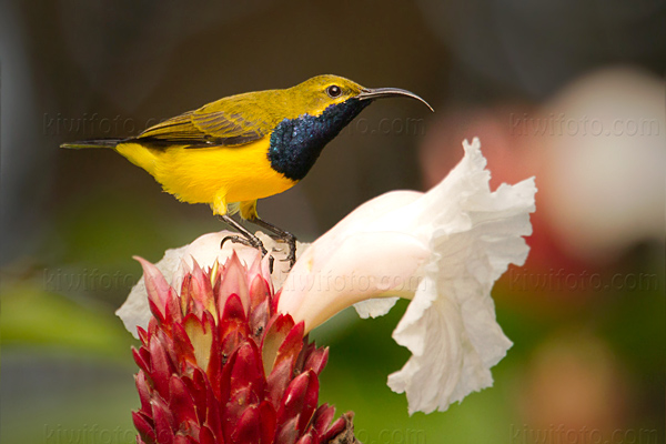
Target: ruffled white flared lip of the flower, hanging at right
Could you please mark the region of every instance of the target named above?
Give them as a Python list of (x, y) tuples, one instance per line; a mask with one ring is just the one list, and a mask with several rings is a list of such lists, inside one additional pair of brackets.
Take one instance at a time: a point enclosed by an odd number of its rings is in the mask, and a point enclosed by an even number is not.
[(527, 256), (522, 236), (532, 232), (536, 189), (529, 179), (491, 192), (477, 142), (465, 144), (463, 161), (422, 199), (454, 211), (433, 214), (434, 254), (393, 333), (413, 353), (389, 377), (392, 390), (406, 392), (410, 413), (444, 411), (492, 385), (490, 367), (512, 345), (495, 320), (491, 289), (509, 263), (521, 265)]

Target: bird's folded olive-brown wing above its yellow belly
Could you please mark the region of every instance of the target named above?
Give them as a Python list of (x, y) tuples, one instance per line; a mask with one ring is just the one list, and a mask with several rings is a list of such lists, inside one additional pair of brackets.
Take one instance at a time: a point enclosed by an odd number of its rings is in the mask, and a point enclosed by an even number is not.
[(135, 140), (157, 147), (173, 144), (188, 148), (234, 147), (253, 142), (265, 135), (263, 121), (250, 120), (240, 113), (209, 111), (202, 107), (158, 123)]

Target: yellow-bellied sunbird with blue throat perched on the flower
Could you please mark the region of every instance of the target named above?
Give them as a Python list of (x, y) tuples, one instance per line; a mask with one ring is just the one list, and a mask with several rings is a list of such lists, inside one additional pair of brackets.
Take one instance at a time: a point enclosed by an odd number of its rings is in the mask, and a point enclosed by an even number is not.
[(268, 252), (232, 215), (261, 226), (289, 245), (296, 238), (261, 219), (256, 201), (299, 183), (324, 147), (377, 99), (405, 97), (398, 88), (364, 88), (339, 75), (313, 77), (286, 89), (230, 95), (148, 128), (135, 137), (95, 139), (60, 147), (107, 148), (150, 173), (163, 190), (188, 203), (209, 204), (213, 214), (241, 234), (224, 238)]

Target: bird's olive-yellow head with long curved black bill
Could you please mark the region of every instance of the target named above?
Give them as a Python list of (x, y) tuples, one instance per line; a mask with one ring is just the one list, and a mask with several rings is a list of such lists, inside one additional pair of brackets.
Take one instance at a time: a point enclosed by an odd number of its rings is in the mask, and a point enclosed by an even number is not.
[(406, 97), (418, 100), (433, 111), (425, 100), (413, 92), (398, 88), (363, 88), (359, 83), (340, 75), (313, 77), (286, 91), (291, 95), (290, 103), (294, 108), (297, 108), (300, 112), (306, 110), (306, 113), (313, 117), (321, 115), (326, 109), (331, 110), (330, 107), (332, 105), (333, 108), (341, 105), (357, 109), (357, 113), (375, 99), (391, 97)]

